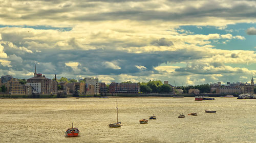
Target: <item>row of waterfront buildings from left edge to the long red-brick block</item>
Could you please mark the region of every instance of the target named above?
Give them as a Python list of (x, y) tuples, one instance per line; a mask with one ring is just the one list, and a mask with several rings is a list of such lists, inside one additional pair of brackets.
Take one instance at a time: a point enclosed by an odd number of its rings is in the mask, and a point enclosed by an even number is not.
[(26, 84), (22, 84), (17, 78), (6, 75), (1, 77), (0, 85), (5, 85), (7, 88), (5, 93), (12, 95), (31, 95), (31, 94), (46, 94), (46, 95), (97, 95), (104, 93), (139, 93), (140, 85), (138, 83), (116, 83), (112, 82), (109, 88), (104, 82), (99, 82), (96, 77), (84, 78), (83, 82), (69, 83), (66, 81), (58, 82), (56, 75), (54, 79), (45, 77), (40, 73), (34, 74), (34, 77), (27, 79)]

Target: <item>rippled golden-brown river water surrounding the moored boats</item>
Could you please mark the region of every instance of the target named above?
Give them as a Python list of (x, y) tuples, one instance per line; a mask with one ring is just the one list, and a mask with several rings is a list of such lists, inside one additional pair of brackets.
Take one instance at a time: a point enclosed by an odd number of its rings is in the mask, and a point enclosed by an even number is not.
[[(116, 122), (118, 99), (121, 128)], [(0, 142), (256, 142), (256, 100), (216, 98), (0, 99)], [(217, 110), (205, 113), (204, 110)], [(179, 119), (179, 113), (198, 116)], [(155, 114), (157, 120), (139, 124)], [(71, 127), (79, 137), (65, 137)]]

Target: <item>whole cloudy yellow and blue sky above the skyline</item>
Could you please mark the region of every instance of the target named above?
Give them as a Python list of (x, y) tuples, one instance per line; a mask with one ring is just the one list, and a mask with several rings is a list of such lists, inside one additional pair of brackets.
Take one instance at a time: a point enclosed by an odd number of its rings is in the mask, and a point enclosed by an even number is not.
[(250, 82), (256, 2), (0, 0), (0, 75)]

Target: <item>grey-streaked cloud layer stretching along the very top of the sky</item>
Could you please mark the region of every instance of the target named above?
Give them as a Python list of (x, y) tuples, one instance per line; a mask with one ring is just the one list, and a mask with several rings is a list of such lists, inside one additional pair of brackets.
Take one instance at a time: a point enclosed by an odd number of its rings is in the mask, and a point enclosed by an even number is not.
[[(14, 1), (15, 2), (15, 1)], [(18, 1), (17, 1), (18, 2)], [(16, 20), (56, 20), (56, 21), (99, 21), (99, 20), (164, 20), (197, 21), (208, 17), (230, 20), (256, 18), (255, 6), (239, 1), (26, 1), (28, 4), (14, 5), (12, 13), (4, 12), (2, 18)], [(38, 3), (35, 3), (38, 2)], [(132, 3), (133, 2), (133, 5)], [(189, 3), (188, 3), (189, 2)], [(31, 5), (31, 4), (36, 5)], [(253, 3), (253, 1), (250, 1)], [(226, 5), (228, 5), (228, 7)], [(255, 3), (254, 3), (255, 4)], [(183, 6), (180, 9), (180, 5)], [(197, 5), (197, 7), (195, 6)], [(3, 4), (4, 8), (10, 5)], [(44, 6), (44, 9), (42, 7)], [(48, 6), (48, 7), (46, 7)], [(164, 9), (172, 6), (172, 10)], [(103, 10), (106, 9), (106, 10)], [(161, 9), (161, 11), (159, 10)], [(6, 9), (8, 10), (8, 9)], [(101, 11), (102, 10), (102, 11)], [(19, 13), (18, 13), (19, 12)], [(20, 16), (21, 15), (21, 16)]]

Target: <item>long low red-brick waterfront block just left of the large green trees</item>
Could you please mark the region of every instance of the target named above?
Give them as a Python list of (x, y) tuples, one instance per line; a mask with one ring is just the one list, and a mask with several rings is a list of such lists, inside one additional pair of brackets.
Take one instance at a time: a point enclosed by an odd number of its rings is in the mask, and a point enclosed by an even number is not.
[(109, 93), (139, 93), (140, 84), (138, 83), (116, 83), (112, 82)]

